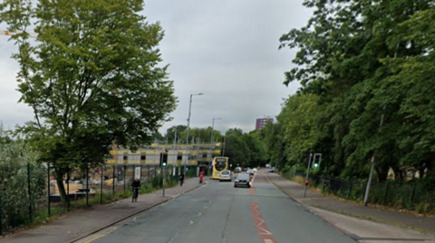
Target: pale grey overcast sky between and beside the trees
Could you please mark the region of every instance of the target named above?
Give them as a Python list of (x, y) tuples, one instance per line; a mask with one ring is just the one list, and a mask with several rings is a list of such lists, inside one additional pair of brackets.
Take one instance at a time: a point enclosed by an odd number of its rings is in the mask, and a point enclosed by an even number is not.
[[(191, 127), (211, 126), (245, 132), (255, 128), (258, 117), (275, 117), (283, 98), (297, 85), (283, 85), (284, 72), (292, 67), (295, 51), (278, 51), (278, 39), (303, 26), (311, 11), (302, 0), (145, 0), (150, 23), (159, 21), (165, 31), (160, 43), (163, 63), (169, 63), (179, 100), (171, 114), (173, 125), (187, 124), (189, 95), (193, 98)], [(0, 24), (0, 30), (6, 26)], [(0, 120), (5, 128), (33, 119), (32, 109), (17, 103), (15, 75), (18, 65), (10, 59), (13, 42), (0, 35)]]

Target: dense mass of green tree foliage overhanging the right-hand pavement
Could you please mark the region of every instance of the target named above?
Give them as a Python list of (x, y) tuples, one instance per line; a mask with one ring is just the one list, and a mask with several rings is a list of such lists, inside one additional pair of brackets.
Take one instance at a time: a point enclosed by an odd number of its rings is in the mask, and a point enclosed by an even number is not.
[[(304, 1), (314, 10), (281, 48), (297, 48), (276, 124), (262, 133), (280, 169), (322, 153), (316, 172), (385, 182), (435, 175), (435, 6), (426, 0)], [(386, 17), (388, 16), (388, 17)], [(380, 126), (382, 120), (382, 126)]]

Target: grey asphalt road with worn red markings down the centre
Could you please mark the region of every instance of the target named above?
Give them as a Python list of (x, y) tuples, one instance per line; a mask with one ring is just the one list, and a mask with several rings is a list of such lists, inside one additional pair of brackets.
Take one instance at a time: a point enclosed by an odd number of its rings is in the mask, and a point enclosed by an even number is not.
[(80, 242), (354, 241), (292, 201), (260, 171), (251, 189), (234, 188), (234, 182), (209, 182)]

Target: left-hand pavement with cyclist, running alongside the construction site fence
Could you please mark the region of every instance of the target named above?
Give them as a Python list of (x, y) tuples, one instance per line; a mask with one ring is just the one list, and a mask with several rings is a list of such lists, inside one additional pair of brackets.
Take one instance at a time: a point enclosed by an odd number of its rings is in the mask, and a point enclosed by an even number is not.
[[(208, 178), (205, 178), (205, 183)], [(59, 220), (43, 225), (37, 229), (25, 230), (1, 238), (5, 243), (46, 243), (46, 242), (74, 242), (87, 237), (97, 231), (106, 229), (121, 220), (125, 220), (144, 210), (179, 197), (183, 193), (192, 191), (204, 184), (199, 184), (198, 178), (185, 180), (183, 186), (175, 186), (162, 191), (141, 194), (138, 201), (132, 203), (131, 198), (115, 201), (110, 204), (96, 205), (88, 210), (73, 210), (63, 215)]]

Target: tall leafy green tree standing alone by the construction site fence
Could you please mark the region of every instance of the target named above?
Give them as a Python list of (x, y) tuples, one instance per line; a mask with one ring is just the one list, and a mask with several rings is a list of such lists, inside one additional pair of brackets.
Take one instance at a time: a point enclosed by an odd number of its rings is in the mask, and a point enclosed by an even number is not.
[(142, 10), (141, 0), (0, 4), (0, 21), (17, 33), (20, 101), (34, 110), (23, 130), (40, 161), (53, 165), (63, 199), (69, 168), (100, 165), (112, 143), (134, 150), (152, 142), (175, 107), (160, 65), (160, 24), (146, 22)]

